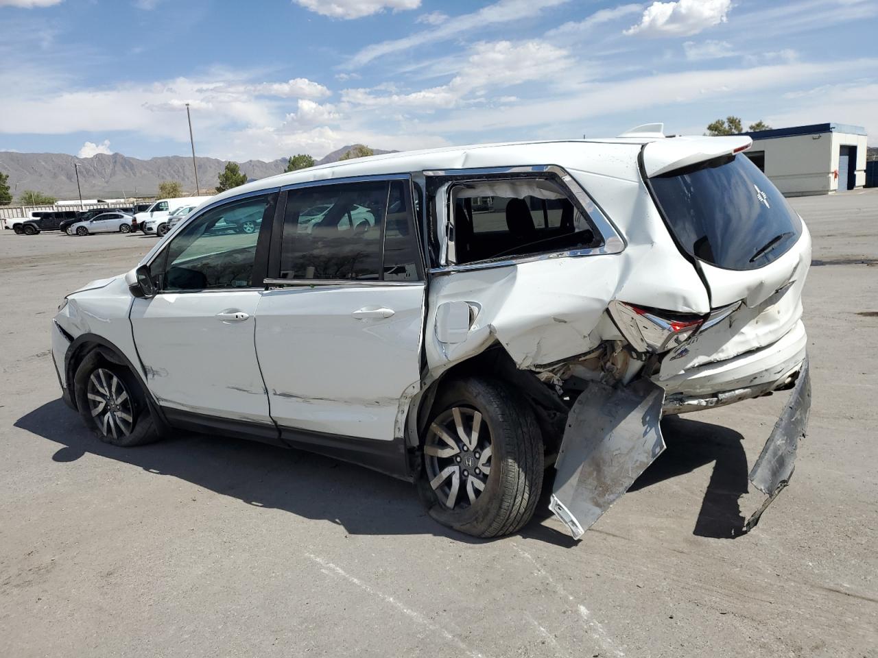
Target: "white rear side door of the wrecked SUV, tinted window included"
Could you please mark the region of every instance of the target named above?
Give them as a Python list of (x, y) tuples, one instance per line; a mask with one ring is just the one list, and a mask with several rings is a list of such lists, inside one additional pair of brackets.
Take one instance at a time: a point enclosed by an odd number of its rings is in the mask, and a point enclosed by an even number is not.
[(289, 191), (266, 281), (275, 290), (256, 312), (256, 352), (284, 433), (399, 435), (400, 400), (420, 380), (424, 308), (411, 209), (401, 176)]

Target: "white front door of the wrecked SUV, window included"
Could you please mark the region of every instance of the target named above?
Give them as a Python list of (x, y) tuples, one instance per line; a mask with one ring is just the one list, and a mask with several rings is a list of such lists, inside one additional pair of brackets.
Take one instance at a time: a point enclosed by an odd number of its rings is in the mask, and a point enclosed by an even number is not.
[(274, 431), (254, 347), (264, 290), (256, 252), (268, 234), (232, 232), (219, 220), (245, 206), (271, 218), (276, 203), (273, 192), (209, 209), (152, 261), (159, 292), (134, 300), (131, 321), (149, 390), (162, 407)]

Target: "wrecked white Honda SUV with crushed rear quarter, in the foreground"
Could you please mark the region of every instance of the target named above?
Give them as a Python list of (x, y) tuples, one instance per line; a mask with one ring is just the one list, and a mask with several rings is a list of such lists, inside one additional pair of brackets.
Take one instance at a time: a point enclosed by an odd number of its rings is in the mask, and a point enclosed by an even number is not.
[(811, 247), (750, 145), (648, 125), (227, 190), (68, 295), (64, 399), (118, 446), (185, 428), (377, 468), (479, 537), (527, 523), (554, 468), (579, 538), (662, 452), (662, 415), (790, 390), (749, 529), (807, 425)]

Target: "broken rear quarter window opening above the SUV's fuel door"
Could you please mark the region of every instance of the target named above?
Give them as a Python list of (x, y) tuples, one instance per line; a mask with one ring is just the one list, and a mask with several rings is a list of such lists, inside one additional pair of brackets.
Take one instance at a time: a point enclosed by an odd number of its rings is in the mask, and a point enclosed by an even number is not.
[(454, 248), (450, 261), (596, 247), (586, 215), (551, 179), (484, 179), (450, 188)]

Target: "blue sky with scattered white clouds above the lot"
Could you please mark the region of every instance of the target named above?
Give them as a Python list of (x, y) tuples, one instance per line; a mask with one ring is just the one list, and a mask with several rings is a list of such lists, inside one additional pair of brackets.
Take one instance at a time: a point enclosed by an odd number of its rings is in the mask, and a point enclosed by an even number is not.
[(0, 0), (0, 151), (245, 161), (865, 126), (876, 0)]

